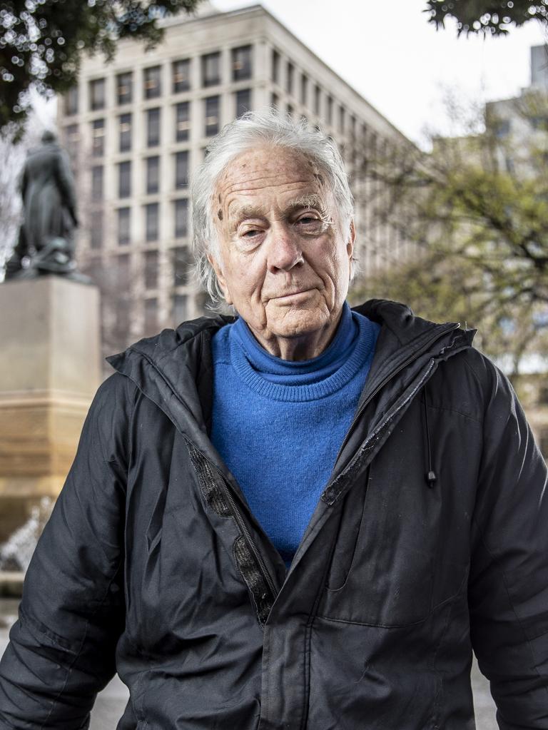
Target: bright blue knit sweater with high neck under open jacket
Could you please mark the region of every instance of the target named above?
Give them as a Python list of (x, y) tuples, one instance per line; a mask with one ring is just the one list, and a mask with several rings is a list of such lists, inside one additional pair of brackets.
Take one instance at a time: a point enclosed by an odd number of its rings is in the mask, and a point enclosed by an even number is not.
[(350, 429), (378, 333), (345, 304), (312, 360), (271, 356), (242, 318), (213, 338), (212, 442), (286, 564)]

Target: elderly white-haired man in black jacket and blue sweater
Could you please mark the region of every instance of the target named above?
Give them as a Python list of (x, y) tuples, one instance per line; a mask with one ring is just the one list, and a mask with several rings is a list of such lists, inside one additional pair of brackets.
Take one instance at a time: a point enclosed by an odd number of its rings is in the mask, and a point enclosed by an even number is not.
[(548, 727), (547, 472), (473, 333), (345, 299), (339, 153), (247, 115), (193, 190), (202, 318), (111, 358), (28, 569), (0, 728)]

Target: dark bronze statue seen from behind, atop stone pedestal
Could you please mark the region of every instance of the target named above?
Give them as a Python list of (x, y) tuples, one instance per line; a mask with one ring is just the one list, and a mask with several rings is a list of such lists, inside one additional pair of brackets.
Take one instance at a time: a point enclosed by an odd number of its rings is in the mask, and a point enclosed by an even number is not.
[(76, 191), (69, 157), (52, 131), (30, 150), (20, 186), (23, 223), (7, 262), (6, 278), (62, 274), (74, 278), (74, 228), (78, 226)]

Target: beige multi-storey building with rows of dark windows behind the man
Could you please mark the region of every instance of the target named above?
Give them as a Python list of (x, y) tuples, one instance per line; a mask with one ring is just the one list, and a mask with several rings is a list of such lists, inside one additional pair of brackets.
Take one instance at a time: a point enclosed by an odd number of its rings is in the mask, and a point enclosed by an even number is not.
[[(350, 169), (363, 150), (407, 143), (260, 5), (206, 6), (163, 26), (153, 50), (125, 39), (111, 63), (85, 59), (58, 114), (83, 209), (80, 264), (103, 291), (111, 351), (203, 313), (188, 274), (188, 185), (225, 123), (269, 106), (304, 116), (339, 142)], [(357, 223), (362, 270), (401, 255), (401, 234), (367, 206)]]

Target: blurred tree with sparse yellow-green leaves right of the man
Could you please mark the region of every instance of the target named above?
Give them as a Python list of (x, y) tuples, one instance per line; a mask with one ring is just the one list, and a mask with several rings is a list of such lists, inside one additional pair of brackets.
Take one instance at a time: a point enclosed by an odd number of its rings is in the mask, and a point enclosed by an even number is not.
[[(452, 114), (466, 118), (457, 106)], [(506, 112), (516, 134), (493, 107), (474, 110), (460, 137), (432, 137), (430, 153), (369, 154), (360, 174), (390, 191), (376, 214), (415, 253), (358, 283), (354, 296), (366, 289), (477, 327), (482, 349), (511, 356), (517, 372), (548, 339), (548, 98), (531, 92)]]

